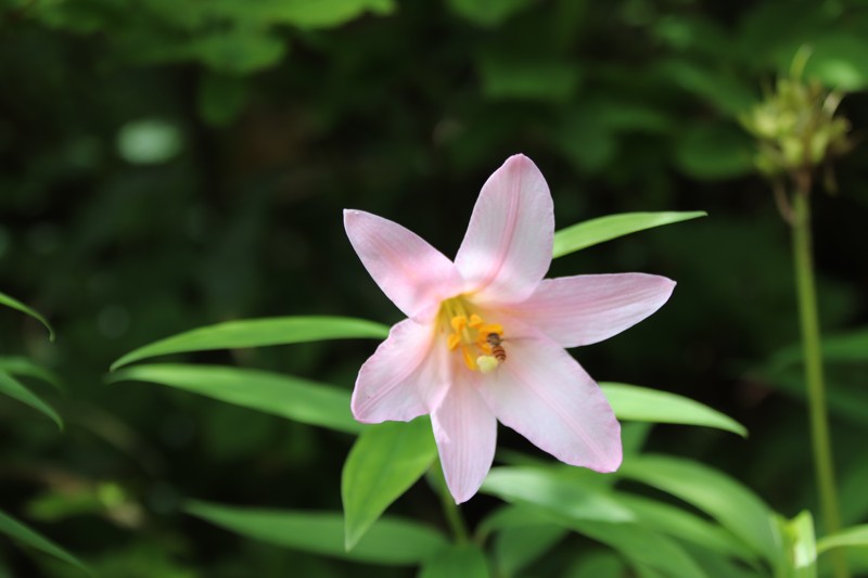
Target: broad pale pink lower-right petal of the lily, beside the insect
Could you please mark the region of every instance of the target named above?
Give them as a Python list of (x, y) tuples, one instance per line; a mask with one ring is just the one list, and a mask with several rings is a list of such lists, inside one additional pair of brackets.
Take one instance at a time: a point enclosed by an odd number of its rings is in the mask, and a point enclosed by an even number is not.
[(621, 425), (600, 387), (544, 335), (511, 339), (480, 391), (500, 422), (562, 462), (597, 472), (621, 465)]

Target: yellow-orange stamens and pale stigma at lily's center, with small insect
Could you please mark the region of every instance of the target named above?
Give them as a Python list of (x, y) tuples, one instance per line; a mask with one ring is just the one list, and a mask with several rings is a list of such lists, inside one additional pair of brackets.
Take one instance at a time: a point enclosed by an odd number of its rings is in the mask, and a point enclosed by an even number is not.
[(447, 334), (446, 346), (461, 352), (468, 369), (488, 373), (507, 359), (503, 326), (487, 323), (463, 295), (443, 301), (437, 318), (441, 331)]

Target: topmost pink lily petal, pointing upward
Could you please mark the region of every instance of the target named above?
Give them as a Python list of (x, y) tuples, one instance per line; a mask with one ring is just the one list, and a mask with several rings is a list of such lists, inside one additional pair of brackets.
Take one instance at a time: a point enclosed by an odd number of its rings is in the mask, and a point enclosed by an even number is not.
[(519, 301), (546, 275), (553, 237), (546, 179), (529, 158), (514, 155), (483, 185), (455, 264), (482, 300)]

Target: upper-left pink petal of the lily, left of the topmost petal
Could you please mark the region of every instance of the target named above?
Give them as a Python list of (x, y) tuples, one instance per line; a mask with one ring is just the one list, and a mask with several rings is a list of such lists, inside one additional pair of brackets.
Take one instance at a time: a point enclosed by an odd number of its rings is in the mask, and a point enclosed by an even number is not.
[(461, 292), (452, 262), (412, 231), (349, 209), (344, 210), (344, 228), (365, 268), (407, 317)]

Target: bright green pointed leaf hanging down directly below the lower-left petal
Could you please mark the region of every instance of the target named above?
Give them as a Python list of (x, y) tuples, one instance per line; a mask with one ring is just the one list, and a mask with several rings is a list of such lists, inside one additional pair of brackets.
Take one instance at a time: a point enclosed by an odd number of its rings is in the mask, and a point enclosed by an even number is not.
[(386, 422), (361, 433), (341, 478), (347, 550), (416, 484), (436, 455), (431, 421), (426, 419)]

